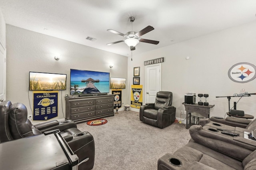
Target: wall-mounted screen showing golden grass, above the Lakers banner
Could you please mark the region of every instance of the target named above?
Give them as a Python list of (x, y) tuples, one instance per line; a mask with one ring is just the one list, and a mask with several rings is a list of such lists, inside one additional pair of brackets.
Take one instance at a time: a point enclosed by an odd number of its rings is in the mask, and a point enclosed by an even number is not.
[(67, 74), (29, 72), (29, 90), (66, 90)]

